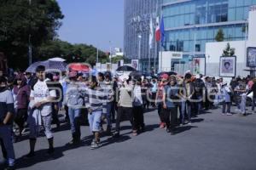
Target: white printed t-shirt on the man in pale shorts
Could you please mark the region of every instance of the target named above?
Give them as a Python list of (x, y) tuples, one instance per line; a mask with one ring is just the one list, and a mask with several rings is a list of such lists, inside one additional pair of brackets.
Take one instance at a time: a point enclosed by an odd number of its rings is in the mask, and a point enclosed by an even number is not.
[[(48, 99), (49, 97), (56, 97), (56, 92), (55, 90), (49, 90), (46, 84), (46, 80), (44, 82), (38, 80), (38, 82), (34, 85), (33, 90), (31, 91), (30, 97), (34, 98), (35, 103), (38, 103)], [(43, 105), (41, 109), (42, 116), (49, 116), (51, 112), (51, 103)]]

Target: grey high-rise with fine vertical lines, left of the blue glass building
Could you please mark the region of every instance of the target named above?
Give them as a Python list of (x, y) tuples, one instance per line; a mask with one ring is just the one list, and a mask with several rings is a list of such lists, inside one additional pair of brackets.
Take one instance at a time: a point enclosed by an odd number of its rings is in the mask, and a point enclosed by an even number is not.
[[(157, 48), (148, 50), (149, 22), (157, 11), (158, 0), (125, 0), (124, 54), (129, 59), (139, 59), (143, 71), (148, 68), (148, 55), (151, 65)], [(141, 38), (139, 38), (141, 36)], [(139, 53), (140, 50), (140, 53)]]

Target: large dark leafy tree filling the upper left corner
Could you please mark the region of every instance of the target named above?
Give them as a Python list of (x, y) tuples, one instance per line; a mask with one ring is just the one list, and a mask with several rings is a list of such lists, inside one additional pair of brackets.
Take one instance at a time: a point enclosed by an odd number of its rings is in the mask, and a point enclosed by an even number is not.
[(9, 65), (26, 66), (28, 37), (31, 35), (33, 59), (38, 47), (53, 40), (61, 26), (63, 14), (55, 0), (0, 1), (0, 51), (9, 59)]

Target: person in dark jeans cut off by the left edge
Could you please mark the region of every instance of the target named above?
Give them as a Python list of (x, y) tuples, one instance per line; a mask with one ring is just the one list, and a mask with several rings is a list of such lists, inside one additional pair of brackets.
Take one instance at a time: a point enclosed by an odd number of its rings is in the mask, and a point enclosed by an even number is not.
[(12, 123), (15, 113), (13, 95), (7, 88), (7, 79), (0, 77), (0, 144), (3, 158), (8, 167), (6, 170), (15, 169), (15, 150), (12, 142)]

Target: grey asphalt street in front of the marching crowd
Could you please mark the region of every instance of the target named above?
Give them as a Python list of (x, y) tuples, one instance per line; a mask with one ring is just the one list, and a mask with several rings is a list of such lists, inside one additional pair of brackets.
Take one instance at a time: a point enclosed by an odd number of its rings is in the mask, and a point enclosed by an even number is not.
[(28, 140), (15, 143), (17, 169), (255, 170), (256, 114), (224, 116), (220, 111), (195, 117), (175, 135), (160, 129), (157, 111), (150, 111), (145, 114), (145, 133), (134, 137), (130, 123), (122, 122), (120, 138), (102, 138), (102, 147), (97, 150), (90, 150), (90, 131), (85, 126), (82, 144), (65, 146), (71, 133), (62, 124), (61, 131), (54, 133), (55, 155), (50, 159), (45, 156), (45, 137), (38, 139), (36, 156), (30, 160), (22, 158), (29, 150)]

